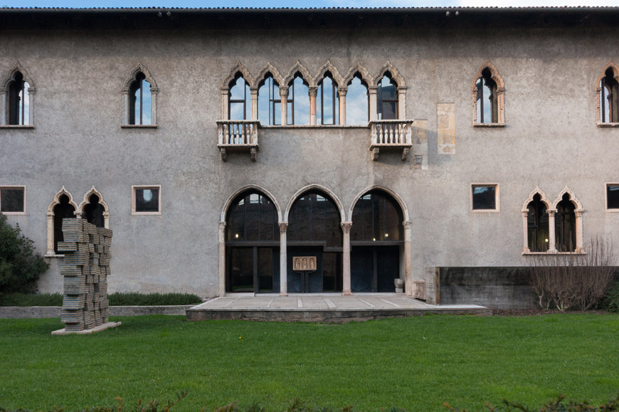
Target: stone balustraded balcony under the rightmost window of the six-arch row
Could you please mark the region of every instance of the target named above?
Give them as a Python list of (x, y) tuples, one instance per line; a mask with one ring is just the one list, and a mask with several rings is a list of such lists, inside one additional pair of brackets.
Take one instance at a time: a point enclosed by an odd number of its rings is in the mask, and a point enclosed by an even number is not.
[(413, 146), (413, 120), (374, 120), (370, 122), (372, 160), (379, 159), (384, 149), (401, 150), (402, 160), (408, 158)]

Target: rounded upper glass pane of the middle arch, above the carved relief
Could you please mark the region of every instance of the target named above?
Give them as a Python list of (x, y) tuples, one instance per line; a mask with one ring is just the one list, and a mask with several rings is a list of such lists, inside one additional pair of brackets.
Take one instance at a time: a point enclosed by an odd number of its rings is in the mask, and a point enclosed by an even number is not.
[(290, 209), (287, 235), (291, 242), (325, 242), (327, 246), (342, 247), (337, 206), (320, 192), (304, 194)]

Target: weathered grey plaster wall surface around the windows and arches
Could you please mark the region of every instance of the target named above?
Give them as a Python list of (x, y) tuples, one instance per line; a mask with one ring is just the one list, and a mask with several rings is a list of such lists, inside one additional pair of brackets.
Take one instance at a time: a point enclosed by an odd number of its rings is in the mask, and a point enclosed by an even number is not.
[[(613, 30), (611, 30), (613, 31)], [(615, 29), (615, 31), (618, 31)], [(618, 34), (618, 33), (614, 33)], [(282, 208), (320, 184), (346, 211), (375, 184), (398, 193), (413, 230), (413, 277), (433, 266), (522, 265), (520, 210), (537, 185), (568, 186), (586, 209), (584, 238), (613, 233), (605, 182), (619, 181), (619, 130), (596, 127), (595, 81), (618, 53), (608, 30), (483, 27), (341, 30), (4, 31), (0, 77), (19, 62), (33, 79), (34, 130), (0, 130), (0, 185), (26, 185), (27, 215), (11, 216), (46, 250), (46, 210), (62, 186), (75, 201), (94, 185), (110, 207), (110, 292), (218, 293), (218, 222), (226, 199), (256, 184)], [(605, 47), (600, 47), (604, 44)], [(428, 169), (409, 157), (372, 162), (368, 128), (260, 130), (258, 161), (216, 149), (223, 78), (239, 61), (314, 75), (330, 60), (371, 75), (387, 60), (408, 86), (406, 117), (428, 121)], [(505, 82), (506, 127), (474, 128), (471, 83), (490, 60)], [(157, 129), (121, 129), (121, 90), (142, 63), (159, 87)], [(437, 152), (437, 104), (455, 105), (455, 153)], [(497, 182), (500, 213), (471, 213), (470, 184)], [(162, 215), (132, 216), (131, 186), (162, 185)], [(615, 250), (619, 249), (615, 236)], [(41, 280), (59, 291), (58, 260)], [(430, 280), (430, 279), (428, 279)]]

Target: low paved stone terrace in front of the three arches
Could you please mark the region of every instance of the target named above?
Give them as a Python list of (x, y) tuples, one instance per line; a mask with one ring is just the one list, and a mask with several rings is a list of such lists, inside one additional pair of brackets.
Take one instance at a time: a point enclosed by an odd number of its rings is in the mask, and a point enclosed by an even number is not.
[(350, 322), (450, 313), (458, 315), (492, 315), (478, 305), (428, 305), (420, 300), (396, 295), (339, 293), (320, 295), (228, 295), (217, 297), (187, 310), (187, 320), (244, 319), (277, 322)]

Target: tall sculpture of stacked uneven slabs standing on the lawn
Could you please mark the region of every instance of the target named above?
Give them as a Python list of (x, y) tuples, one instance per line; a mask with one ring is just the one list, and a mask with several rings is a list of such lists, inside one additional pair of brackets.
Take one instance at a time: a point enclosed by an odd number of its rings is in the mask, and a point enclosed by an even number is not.
[(112, 231), (80, 218), (63, 219), (65, 253), (60, 274), (64, 278), (61, 320), (66, 332), (92, 329), (107, 323), (107, 276), (110, 275)]

